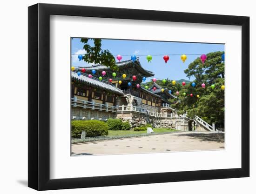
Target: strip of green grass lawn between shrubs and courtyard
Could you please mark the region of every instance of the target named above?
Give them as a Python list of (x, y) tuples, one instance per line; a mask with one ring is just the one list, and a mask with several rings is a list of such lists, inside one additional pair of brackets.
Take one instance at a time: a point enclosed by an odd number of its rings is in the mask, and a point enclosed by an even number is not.
[[(163, 132), (173, 132), (177, 131), (176, 129), (169, 128), (153, 128), (154, 133), (163, 133)], [(127, 134), (146, 134), (145, 131), (131, 131), (131, 130), (108, 130), (108, 136), (118, 136), (118, 135), (127, 135)]]

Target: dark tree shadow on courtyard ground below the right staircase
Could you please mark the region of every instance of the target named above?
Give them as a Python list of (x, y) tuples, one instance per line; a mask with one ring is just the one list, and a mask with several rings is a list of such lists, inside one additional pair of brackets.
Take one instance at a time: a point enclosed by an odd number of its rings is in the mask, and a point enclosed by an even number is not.
[(201, 141), (215, 141), (219, 143), (224, 143), (224, 133), (213, 133), (213, 134), (197, 134), (197, 133), (191, 133), (191, 134), (176, 134), (177, 136), (187, 136), (190, 137), (190, 139), (197, 139)]

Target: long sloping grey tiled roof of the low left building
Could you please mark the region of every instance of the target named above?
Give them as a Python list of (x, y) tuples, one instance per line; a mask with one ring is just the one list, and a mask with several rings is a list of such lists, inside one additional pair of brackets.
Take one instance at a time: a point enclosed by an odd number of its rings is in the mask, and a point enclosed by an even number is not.
[(107, 90), (109, 92), (115, 93), (115, 94), (119, 94), (119, 95), (123, 95), (123, 92), (121, 89), (115, 87), (115, 85), (110, 84), (109, 82), (106, 81), (101, 81), (97, 78), (89, 78), (87, 74), (82, 74), (80, 76), (77, 75), (77, 71), (73, 71), (71, 72), (71, 77), (74, 80), (80, 80), (82, 82), (85, 82), (86, 84), (88, 84), (89, 86), (93, 86), (93, 87), (98, 87), (100, 89), (104, 89)]

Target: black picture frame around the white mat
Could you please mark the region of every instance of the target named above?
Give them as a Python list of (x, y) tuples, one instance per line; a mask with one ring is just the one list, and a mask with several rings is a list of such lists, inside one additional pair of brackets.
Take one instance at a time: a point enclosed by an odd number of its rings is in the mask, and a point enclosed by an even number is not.
[[(50, 15), (242, 26), (242, 167), (53, 179), (50, 175)], [(36, 4), (28, 7), (28, 187), (103, 187), (249, 176), (249, 17), (138, 9)]]

